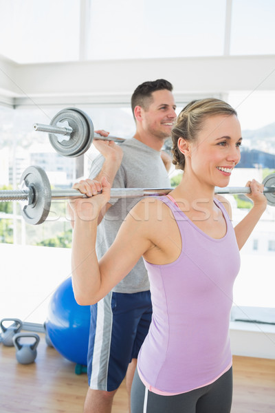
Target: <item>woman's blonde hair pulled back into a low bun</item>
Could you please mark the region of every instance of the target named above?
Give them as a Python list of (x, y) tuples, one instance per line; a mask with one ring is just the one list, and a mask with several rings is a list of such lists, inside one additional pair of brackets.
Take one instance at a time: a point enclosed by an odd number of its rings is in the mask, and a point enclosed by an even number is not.
[(173, 164), (177, 169), (184, 170), (185, 166), (184, 154), (179, 151), (177, 146), (179, 138), (195, 142), (199, 131), (203, 128), (204, 120), (214, 115), (237, 116), (235, 109), (217, 98), (192, 100), (181, 110), (172, 131), (173, 147), (171, 151), (173, 153)]

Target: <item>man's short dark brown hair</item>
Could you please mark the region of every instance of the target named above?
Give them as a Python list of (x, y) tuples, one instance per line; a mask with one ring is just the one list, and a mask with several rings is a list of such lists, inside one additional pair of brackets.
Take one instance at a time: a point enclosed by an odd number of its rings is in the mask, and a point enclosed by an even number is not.
[(152, 93), (156, 90), (163, 89), (167, 89), (172, 92), (173, 85), (165, 79), (157, 79), (156, 81), (144, 82), (137, 86), (131, 98), (133, 117), (135, 118), (134, 110), (136, 106), (141, 106), (142, 109), (146, 110), (153, 100)]

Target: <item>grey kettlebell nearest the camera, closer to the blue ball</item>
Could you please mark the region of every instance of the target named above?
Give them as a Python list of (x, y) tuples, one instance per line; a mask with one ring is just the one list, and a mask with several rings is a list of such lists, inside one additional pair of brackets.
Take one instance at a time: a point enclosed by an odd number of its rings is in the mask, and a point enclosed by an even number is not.
[[(21, 337), (32, 337), (34, 338), (34, 343), (19, 343)], [(37, 356), (36, 347), (39, 344), (40, 337), (39, 335), (33, 332), (18, 332), (13, 336), (12, 341), (14, 346), (17, 349), (17, 361), (21, 364), (30, 364), (33, 363)]]

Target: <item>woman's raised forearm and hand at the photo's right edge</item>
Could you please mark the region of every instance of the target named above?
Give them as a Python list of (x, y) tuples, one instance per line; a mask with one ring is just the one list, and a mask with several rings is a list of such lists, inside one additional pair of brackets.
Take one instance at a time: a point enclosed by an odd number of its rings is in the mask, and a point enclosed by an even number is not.
[(239, 250), (241, 250), (248, 240), (248, 237), (267, 207), (267, 199), (265, 198), (265, 195), (263, 195), (263, 184), (260, 184), (256, 180), (252, 180), (249, 181), (246, 186), (250, 187), (251, 193), (245, 195), (254, 202), (254, 205), (248, 215), (246, 215), (234, 228)]

